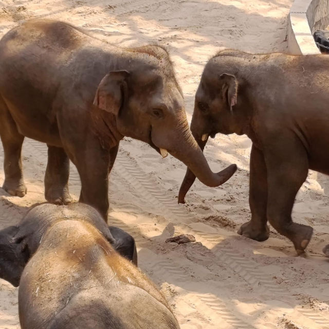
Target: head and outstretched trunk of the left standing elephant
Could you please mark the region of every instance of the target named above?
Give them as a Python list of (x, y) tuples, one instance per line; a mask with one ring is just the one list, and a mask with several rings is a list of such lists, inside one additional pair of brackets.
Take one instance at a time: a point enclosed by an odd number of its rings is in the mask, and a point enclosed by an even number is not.
[(167, 51), (159, 46), (132, 51), (133, 60), (121, 65), (129, 69), (109, 72), (97, 89), (94, 105), (103, 112), (99, 116), (108, 130), (115, 127), (122, 137), (149, 143), (162, 157), (169, 152), (207, 186), (223, 184), (236, 166), (217, 174), (210, 170), (189, 129), (184, 99)]

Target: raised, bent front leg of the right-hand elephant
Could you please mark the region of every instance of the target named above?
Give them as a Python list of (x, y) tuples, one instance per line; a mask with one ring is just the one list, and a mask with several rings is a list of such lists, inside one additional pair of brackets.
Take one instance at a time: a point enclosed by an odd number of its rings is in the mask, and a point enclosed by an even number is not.
[[(277, 137), (265, 153), (267, 168), (267, 219), (280, 234), (294, 243), (298, 254), (307, 247), (313, 228), (291, 220), (295, 197), (307, 177), (308, 157), (295, 136)], [(280, 143), (280, 144), (279, 144)]]

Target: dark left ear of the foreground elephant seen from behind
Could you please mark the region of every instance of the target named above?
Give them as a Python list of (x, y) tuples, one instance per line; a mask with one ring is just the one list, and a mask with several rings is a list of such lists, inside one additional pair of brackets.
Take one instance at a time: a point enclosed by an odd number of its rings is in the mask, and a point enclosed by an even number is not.
[(19, 227), (9, 226), (0, 231), (0, 278), (17, 287), (30, 258), (23, 237), (17, 237)]

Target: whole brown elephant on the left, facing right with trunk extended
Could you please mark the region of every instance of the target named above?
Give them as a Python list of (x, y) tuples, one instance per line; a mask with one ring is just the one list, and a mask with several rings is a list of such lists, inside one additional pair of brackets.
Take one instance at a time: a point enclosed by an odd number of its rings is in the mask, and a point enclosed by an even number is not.
[(236, 170), (210, 170), (189, 130), (165, 49), (119, 48), (57, 21), (27, 21), (0, 41), (0, 136), (8, 193), (26, 194), (26, 136), (48, 145), (45, 198), (71, 201), (70, 159), (81, 179), (80, 201), (104, 218), (108, 174), (124, 136), (149, 143), (163, 157), (169, 152), (208, 186), (223, 184)]

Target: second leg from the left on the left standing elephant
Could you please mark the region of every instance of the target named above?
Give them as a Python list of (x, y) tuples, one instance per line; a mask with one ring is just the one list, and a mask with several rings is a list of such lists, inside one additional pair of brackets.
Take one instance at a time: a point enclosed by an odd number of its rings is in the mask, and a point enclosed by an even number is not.
[(67, 205), (72, 199), (68, 192), (70, 162), (64, 149), (48, 145), (45, 174), (45, 198), (57, 205)]

